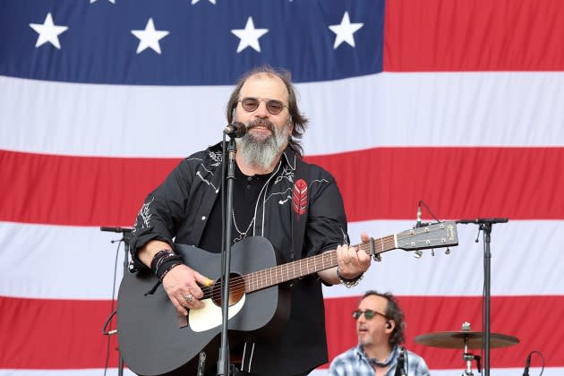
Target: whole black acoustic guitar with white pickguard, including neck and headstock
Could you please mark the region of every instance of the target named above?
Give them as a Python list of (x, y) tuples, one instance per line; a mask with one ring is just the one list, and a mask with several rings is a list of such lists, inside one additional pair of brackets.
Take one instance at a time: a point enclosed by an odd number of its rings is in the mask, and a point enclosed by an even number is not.
[[(356, 244), (376, 261), (380, 253), (394, 249), (415, 251), (458, 244), (455, 222), (440, 222), (410, 229), (370, 243)], [(359, 252), (360, 252), (359, 251)], [(162, 286), (146, 293), (158, 282), (149, 270), (125, 273), (117, 301), (119, 348), (132, 372), (141, 375), (192, 375), (198, 369), (199, 355), (215, 366), (221, 334), (221, 254), (194, 246), (175, 244), (186, 265), (202, 275), (216, 279), (213, 286), (202, 286), (205, 307), (178, 317)], [(329, 251), (298, 261), (278, 265), (269, 241), (252, 236), (235, 244), (231, 251), (229, 277), (229, 345), (244, 338), (275, 338), (289, 313), (287, 284), (320, 270), (337, 266), (337, 252)]]

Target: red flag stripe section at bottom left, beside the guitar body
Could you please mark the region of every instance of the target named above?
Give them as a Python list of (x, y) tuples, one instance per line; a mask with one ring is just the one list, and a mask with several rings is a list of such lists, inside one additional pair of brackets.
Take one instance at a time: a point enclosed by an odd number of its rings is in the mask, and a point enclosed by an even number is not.
[[(0, 369), (103, 368), (111, 301), (0, 297)], [(115, 325), (113, 326), (115, 328)], [(112, 328), (112, 329), (113, 329)], [(116, 336), (109, 366), (117, 366)]]

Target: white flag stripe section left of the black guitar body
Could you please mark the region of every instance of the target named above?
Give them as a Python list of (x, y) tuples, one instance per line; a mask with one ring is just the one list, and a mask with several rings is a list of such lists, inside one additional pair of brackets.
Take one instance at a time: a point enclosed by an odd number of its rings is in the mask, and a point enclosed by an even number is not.
[(118, 239), (98, 227), (0, 223), (0, 295), (111, 299), (124, 269)]

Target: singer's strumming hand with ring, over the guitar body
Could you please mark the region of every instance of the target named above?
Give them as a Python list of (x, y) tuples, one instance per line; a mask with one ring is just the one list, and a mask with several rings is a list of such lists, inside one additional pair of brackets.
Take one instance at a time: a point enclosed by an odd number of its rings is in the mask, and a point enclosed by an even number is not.
[(188, 314), (188, 309), (203, 308), (204, 303), (200, 301), (203, 292), (200, 286), (210, 286), (213, 283), (213, 280), (202, 276), (184, 264), (170, 269), (163, 278), (163, 287), (168, 298), (175, 306), (176, 312), (184, 316)]

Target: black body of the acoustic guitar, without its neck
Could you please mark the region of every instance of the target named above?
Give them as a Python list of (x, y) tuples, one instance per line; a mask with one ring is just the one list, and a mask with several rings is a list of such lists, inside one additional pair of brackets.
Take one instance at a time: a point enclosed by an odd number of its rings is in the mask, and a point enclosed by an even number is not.
[[(182, 254), (192, 269), (215, 279), (214, 295), (220, 295), (220, 253), (183, 244), (176, 244), (175, 251)], [(253, 236), (235, 244), (231, 253), (230, 291), (237, 282), (241, 286), (238, 276), (275, 266), (276, 252), (267, 239)], [(238, 281), (233, 282), (234, 275)], [(194, 331), (190, 320), (187, 326), (179, 328), (175, 307), (162, 286), (158, 286), (155, 294), (144, 295), (157, 281), (147, 270), (124, 275), (117, 304), (119, 348), (124, 362), (132, 372), (141, 375), (192, 375), (197, 371), (198, 355), (204, 351), (206, 369), (215, 367), (221, 342), (220, 310), (219, 318), (214, 320), (219, 325), (213, 328)], [(278, 336), (286, 325), (289, 304), (285, 286), (269, 286), (245, 294), (243, 307), (228, 321), (229, 345), (235, 346), (249, 338)], [(218, 302), (219, 308), (220, 305)]]

